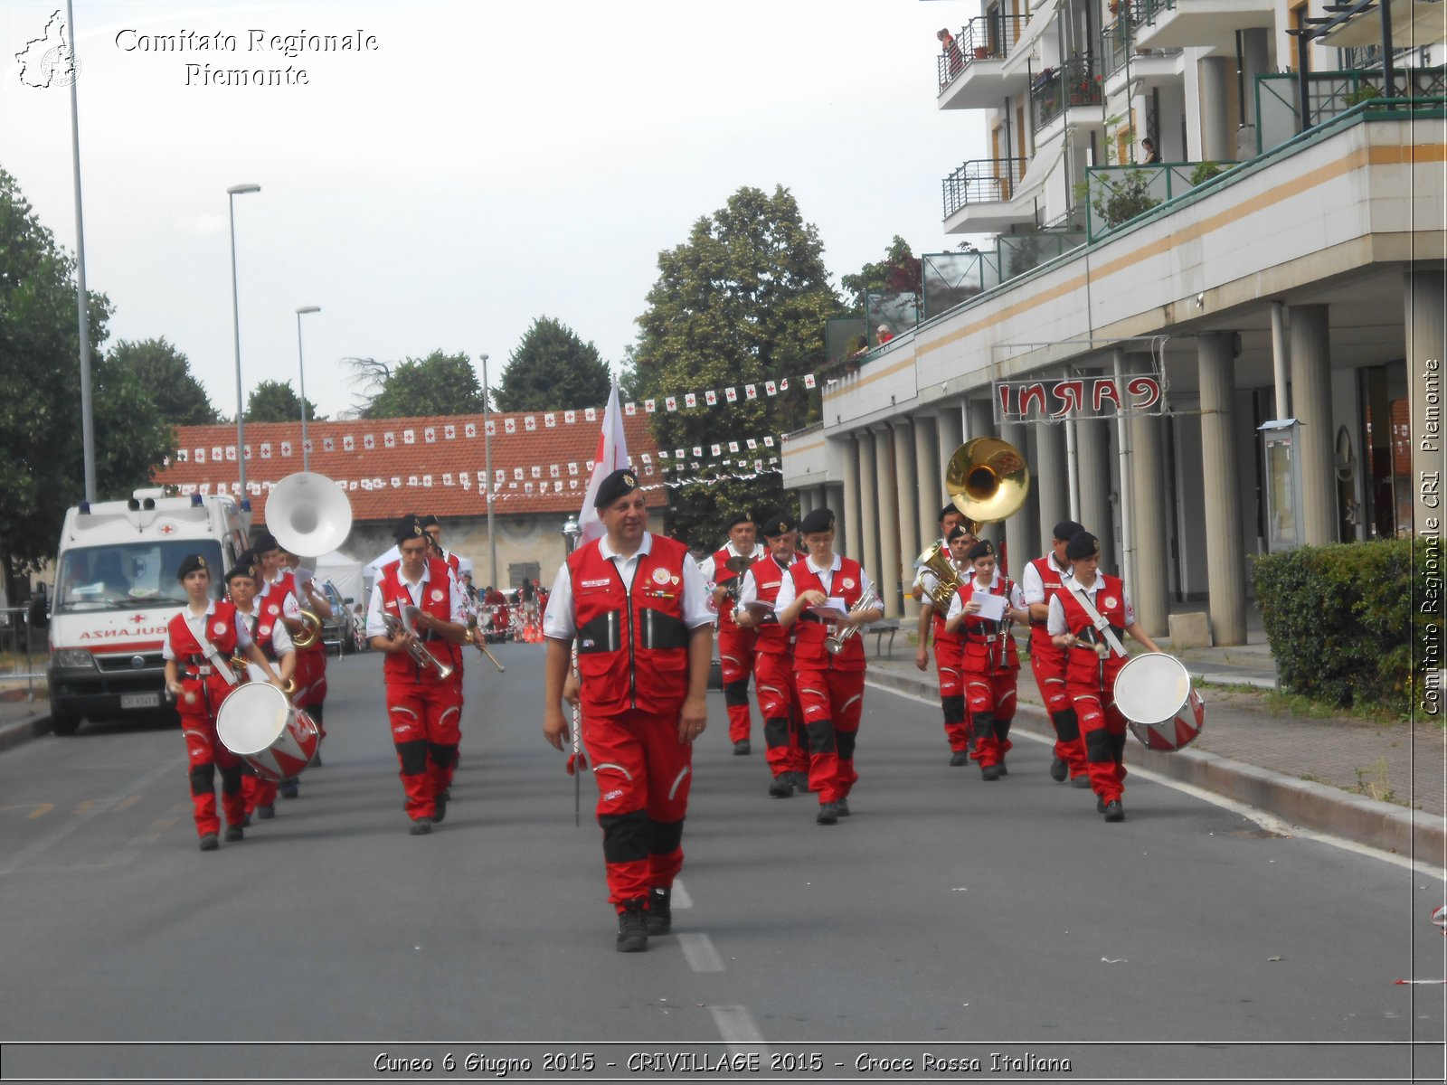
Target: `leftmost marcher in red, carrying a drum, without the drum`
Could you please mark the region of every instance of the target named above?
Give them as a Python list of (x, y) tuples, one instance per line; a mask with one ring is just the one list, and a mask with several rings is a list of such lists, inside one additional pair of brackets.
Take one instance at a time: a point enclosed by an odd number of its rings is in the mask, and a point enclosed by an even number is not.
[(226, 842), (240, 841), (245, 833), (246, 801), (242, 797), (242, 760), (221, 745), (216, 733), (216, 713), (232, 692), (233, 655), (245, 655), (281, 687), (282, 680), (266, 657), (252, 642), (246, 624), (236, 608), (210, 596), (211, 570), (205, 558), (191, 554), (181, 560), (177, 580), (187, 593), (187, 605), (166, 624), (166, 639), (161, 655), (166, 661), (166, 692), (175, 697), (181, 713), (181, 733), (185, 736), (187, 758), (191, 762), (191, 810), (201, 851), (217, 849), (221, 827), (216, 816), (216, 770), (221, 770), (221, 812), (226, 816)]

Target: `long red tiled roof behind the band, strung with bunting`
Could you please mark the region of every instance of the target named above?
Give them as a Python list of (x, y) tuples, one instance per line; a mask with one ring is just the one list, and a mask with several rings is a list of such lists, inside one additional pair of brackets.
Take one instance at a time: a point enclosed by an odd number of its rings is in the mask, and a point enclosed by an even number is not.
[[(553, 415), (551, 427), (547, 425), (548, 414)], [(566, 421), (567, 414), (492, 415), (492, 470), (504, 473), (493, 512), (534, 515), (580, 508), (603, 412), (598, 408), (595, 421), (587, 421), (583, 411), (572, 412), (573, 422)], [(528, 428), (530, 420), (532, 428)], [(509, 424), (512, 433), (506, 431)], [(661, 483), (658, 446), (647, 415), (625, 415), (624, 433), (640, 480), (644, 486)], [(482, 415), (308, 422), (307, 438), (311, 441), (311, 470), (346, 489), (355, 519), (386, 521), (404, 512), (486, 514), (478, 489), (479, 477), (486, 476)], [(177, 444), (179, 453), (158, 475), (159, 485), (179, 486), (182, 493), (201, 486), (205, 489), (200, 492), (216, 493), (221, 486), (234, 492), (234, 425), (182, 425), (177, 428)], [(253, 519), (265, 522), (269, 485), (301, 470), (301, 422), (249, 422), (246, 444), (250, 448), (246, 482), (252, 490)], [(645, 453), (651, 464), (642, 460)], [(651, 508), (669, 503), (661, 486), (647, 490), (647, 499)]]

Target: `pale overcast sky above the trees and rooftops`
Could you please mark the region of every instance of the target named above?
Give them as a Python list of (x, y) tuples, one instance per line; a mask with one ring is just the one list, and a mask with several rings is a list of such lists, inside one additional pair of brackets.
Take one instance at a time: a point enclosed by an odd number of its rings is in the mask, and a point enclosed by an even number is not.
[[(0, 6), (0, 166), (75, 244), (69, 94), (14, 55), (61, 0)], [(906, 237), (952, 249), (941, 178), (985, 156), (978, 114), (935, 109), (935, 30), (978, 0), (75, 0), (88, 285), (110, 341), (165, 336), (236, 409), (227, 195), (247, 389), (297, 378), (334, 415), (347, 356), (491, 356), (496, 383), (547, 314), (611, 363), (657, 255), (742, 185), (790, 188), (835, 282)], [(139, 48), (236, 36), (234, 52)], [(250, 30), (375, 36), (287, 58)], [(124, 32), (124, 33), (122, 33)], [(117, 35), (120, 35), (117, 41)], [(136, 46), (136, 48), (127, 48)], [(188, 64), (304, 68), (305, 85), (200, 85)], [(480, 369), (479, 369), (480, 373)]]

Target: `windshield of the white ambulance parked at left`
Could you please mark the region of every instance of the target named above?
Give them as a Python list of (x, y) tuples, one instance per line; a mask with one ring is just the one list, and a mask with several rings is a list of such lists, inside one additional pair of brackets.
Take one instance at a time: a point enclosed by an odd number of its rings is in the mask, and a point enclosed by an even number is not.
[(179, 606), (187, 596), (177, 580), (177, 570), (188, 554), (205, 558), (211, 569), (211, 596), (220, 599), (223, 570), (218, 542), (137, 540), (61, 554), (55, 576), (55, 613)]

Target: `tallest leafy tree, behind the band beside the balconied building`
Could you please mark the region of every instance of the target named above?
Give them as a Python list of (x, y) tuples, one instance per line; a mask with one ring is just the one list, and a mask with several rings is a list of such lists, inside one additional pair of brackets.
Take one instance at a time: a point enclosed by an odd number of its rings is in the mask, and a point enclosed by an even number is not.
[[(803, 373), (823, 363), (823, 323), (839, 310), (823, 266), (819, 231), (805, 223), (789, 190), (741, 188), (693, 224), (689, 240), (658, 255), (658, 279), (625, 382), (631, 399), (657, 398), (654, 435), (664, 448), (780, 434), (818, 415), (818, 392)], [(764, 380), (794, 378), (789, 392), (765, 396)], [(760, 386), (758, 399), (682, 409), (682, 393)], [(661, 409), (680, 395), (680, 409)], [(726, 447), (726, 446), (725, 446)], [(742, 456), (742, 453), (741, 453)], [(735, 469), (738, 470), (738, 469)], [(750, 467), (751, 470), (751, 467)], [(699, 548), (724, 538), (724, 521), (747, 509), (768, 515), (786, 502), (778, 475), (721, 479), (673, 490), (670, 531)]]

